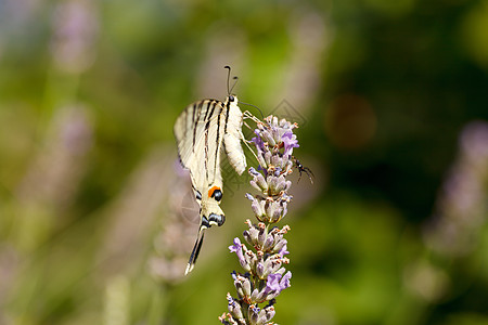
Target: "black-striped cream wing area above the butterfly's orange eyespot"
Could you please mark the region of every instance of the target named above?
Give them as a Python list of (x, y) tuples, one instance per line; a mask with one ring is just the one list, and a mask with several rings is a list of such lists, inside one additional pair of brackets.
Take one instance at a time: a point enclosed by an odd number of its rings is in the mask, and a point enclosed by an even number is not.
[(175, 123), (181, 164), (190, 170), (195, 190), (221, 187), (220, 150), (224, 133), (223, 103), (204, 100), (188, 106)]

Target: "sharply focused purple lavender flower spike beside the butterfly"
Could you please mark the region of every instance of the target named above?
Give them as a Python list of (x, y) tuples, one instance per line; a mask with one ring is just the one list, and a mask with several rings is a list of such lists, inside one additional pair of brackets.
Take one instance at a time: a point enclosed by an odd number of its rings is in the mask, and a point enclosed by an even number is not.
[(228, 294), (229, 313), (219, 317), (222, 324), (273, 324), (275, 298), (291, 286), (292, 272), (284, 268), (290, 263), (285, 257), (290, 253), (288, 243), (284, 238), (290, 226), (279, 229), (272, 224), (286, 216), (293, 198), (287, 193), (292, 185), (287, 177), (293, 171), (293, 150), (299, 147), (293, 133), (297, 127), (274, 116), (257, 121), (252, 144), (257, 150), (259, 165), (251, 167), (248, 173), (252, 187), (259, 193), (246, 193), (246, 197), (259, 223), (247, 220), (248, 230), (243, 233), (245, 243), (234, 238), (229, 246), (245, 273), (232, 272), (237, 298)]

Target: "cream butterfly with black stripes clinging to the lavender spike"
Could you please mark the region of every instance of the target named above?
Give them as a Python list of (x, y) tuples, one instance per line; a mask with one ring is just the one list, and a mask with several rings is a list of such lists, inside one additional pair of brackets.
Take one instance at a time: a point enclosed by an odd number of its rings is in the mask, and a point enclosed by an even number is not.
[[(175, 138), (181, 165), (190, 170), (192, 188), (200, 206), (200, 227), (184, 274), (191, 272), (198, 257), (204, 231), (222, 225), (226, 216), (220, 208), (222, 150), (237, 174), (246, 169), (246, 157), (241, 146), (243, 113), (237, 98), (229, 94), (224, 102), (203, 100), (189, 105), (175, 122)], [(223, 144), (223, 145), (222, 145)]]

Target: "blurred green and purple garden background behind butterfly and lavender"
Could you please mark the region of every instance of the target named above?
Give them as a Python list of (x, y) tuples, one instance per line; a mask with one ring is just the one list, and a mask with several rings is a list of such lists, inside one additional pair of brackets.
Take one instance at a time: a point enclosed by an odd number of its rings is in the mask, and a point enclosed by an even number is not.
[(172, 125), (224, 65), (316, 176), (273, 321), (488, 324), (487, 0), (0, 0), (0, 324), (218, 322), (252, 187), (182, 277)]

